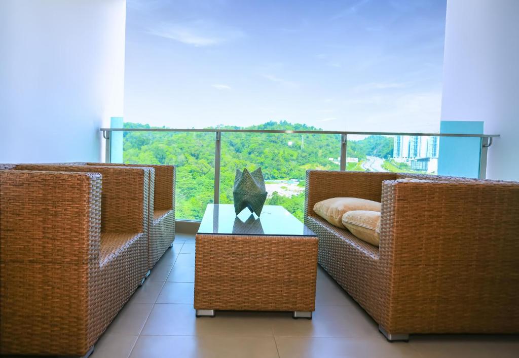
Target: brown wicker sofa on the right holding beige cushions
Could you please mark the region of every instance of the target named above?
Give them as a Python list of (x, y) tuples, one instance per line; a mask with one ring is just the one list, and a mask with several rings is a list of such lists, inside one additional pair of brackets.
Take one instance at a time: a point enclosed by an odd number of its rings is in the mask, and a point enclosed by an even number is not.
[[(397, 180), (409, 177), (422, 181)], [(333, 197), (381, 201), (379, 247), (313, 212)], [(305, 224), (319, 264), (388, 340), (519, 332), (519, 183), (310, 170)]]

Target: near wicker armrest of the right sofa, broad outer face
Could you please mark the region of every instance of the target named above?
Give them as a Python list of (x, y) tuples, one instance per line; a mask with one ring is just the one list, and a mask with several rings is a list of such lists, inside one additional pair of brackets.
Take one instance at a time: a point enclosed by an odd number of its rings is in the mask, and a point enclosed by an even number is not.
[(471, 312), (499, 332), (506, 307), (519, 315), (519, 183), (385, 181), (382, 196), (388, 332), (447, 332), (441, 317)]

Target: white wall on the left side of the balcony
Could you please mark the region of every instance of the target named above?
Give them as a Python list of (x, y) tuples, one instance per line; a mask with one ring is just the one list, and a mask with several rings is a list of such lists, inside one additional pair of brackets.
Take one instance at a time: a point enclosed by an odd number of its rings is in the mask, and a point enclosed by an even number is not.
[(0, 1), (0, 162), (104, 159), (125, 22), (126, 0)]

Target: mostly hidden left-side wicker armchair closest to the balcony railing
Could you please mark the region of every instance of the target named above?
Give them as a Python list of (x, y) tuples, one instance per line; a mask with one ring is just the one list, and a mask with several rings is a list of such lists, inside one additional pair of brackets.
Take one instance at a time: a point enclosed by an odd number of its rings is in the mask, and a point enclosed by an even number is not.
[[(155, 170), (155, 177), (149, 181), (149, 231), (148, 270), (151, 270), (175, 240), (175, 180), (174, 166), (148, 164), (117, 164), (74, 162), (64, 165), (146, 167)], [(152, 173), (153, 174), (153, 173)], [(148, 271), (149, 274), (149, 271)]]

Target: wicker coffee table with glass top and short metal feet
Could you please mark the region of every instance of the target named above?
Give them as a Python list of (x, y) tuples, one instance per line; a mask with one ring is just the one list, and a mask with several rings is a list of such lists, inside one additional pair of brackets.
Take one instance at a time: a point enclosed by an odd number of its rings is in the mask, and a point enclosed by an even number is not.
[(215, 310), (315, 310), (317, 235), (282, 206), (265, 205), (261, 217), (230, 204), (209, 204), (196, 235), (197, 316)]

